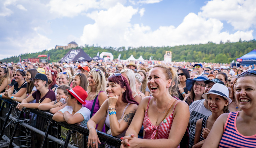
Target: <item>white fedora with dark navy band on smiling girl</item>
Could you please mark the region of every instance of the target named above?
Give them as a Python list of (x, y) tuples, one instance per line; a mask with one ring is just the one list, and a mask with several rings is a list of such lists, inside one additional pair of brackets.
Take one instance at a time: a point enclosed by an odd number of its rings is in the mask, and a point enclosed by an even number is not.
[(216, 94), (222, 96), (228, 101), (228, 104), (232, 102), (232, 100), (228, 98), (228, 88), (222, 84), (214, 84), (208, 93), (202, 95), (203, 99), (208, 100), (207, 94)]

